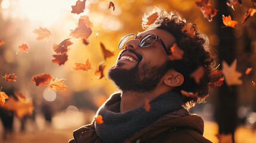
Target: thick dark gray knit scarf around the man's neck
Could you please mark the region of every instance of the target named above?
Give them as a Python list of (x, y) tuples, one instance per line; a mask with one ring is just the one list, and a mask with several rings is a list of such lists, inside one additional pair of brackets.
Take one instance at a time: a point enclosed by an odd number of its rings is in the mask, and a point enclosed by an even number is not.
[(104, 123), (95, 123), (95, 129), (103, 142), (124, 142), (165, 114), (179, 110), (183, 104), (181, 95), (177, 92), (167, 92), (150, 101), (149, 112), (139, 107), (120, 113), (120, 102), (121, 94), (113, 94), (97, 111)]

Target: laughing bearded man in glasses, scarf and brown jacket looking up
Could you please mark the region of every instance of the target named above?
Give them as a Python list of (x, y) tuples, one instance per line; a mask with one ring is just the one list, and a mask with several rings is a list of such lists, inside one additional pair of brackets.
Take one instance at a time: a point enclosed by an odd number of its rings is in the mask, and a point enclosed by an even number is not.
[[(147, 30), (124, 36), (118, 45), (122, 51), (109, 78), (121, 92), (97, 111), (104, 123), (94, 120), (82, 126), (69, 142), (210, 142), (202, 136), (201, 117), (185, 109), (208, 95), (212, 58), (206, 37), (195, 24), (184, 30), (189, 23), (177, 14), (155, 12), (155, 23), (147, 26), (143, 18)], [(181, 58), (175, 55), (178, 49)], [(192, 73), (200, 67), (203, 74), (197, 82)], [(150, 110), (145, 110), (145, 100)]]

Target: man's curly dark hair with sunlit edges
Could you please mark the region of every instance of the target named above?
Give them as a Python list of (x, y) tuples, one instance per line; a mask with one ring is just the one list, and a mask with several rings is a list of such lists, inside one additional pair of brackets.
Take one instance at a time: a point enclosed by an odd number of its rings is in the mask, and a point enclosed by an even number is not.
[[(147, 18), (153, 13), (158, 13), (155, 23), (147, 25)], [(190, 24), (193, 30), (191, 35), (183, 27)], [(170, 60), (172, 69), (183, 74), (184, 82), (174, 90), (198, 93), (197, 97), (191, 98), (183, 96), (184, 107), (193, 107), (196, 103), (203, 102), (209, 94), (209, 82), (211, 82), (212, 61), (213, 58), (209, 52), (208, 37), (198, 32), (196, 24), (191, 24), (178, 15), (178, 13), (167, 13), (165, 10), (155, 8), (152, 12), (146, 13), (143, 17), (143, 29), (164, 29), (171, 33), (175, 39), (178, 48), (184, 51), (181, 60)], [(199, 83), (195, 82), (190, 74), (199, 67), (203, 67), (204, 74)]]

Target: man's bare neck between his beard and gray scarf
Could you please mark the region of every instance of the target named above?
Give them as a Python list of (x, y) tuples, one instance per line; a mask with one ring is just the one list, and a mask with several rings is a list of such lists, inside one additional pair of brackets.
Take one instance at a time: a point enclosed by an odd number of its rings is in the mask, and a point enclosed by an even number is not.
[(134, 110), (135, 108), (144, 105), (145, 98), (152, 101), (161, 94), (164, 94), (169, 90), (169, 88), (157, 88), (158, 90), (153, 90), (150, 92), (134, 92), (134, 91), (122, 91), (121, 93), (121, 104), (120, 112), (124, 113), (127, 111)]

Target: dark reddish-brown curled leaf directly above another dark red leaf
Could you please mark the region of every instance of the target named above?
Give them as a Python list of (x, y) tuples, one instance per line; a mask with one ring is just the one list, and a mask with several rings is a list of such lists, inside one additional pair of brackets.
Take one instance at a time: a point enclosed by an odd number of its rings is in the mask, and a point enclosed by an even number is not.
[(67, 46), (70, 46), (70, 45), (73, 44), (69, 40), (70, 40), (70, 38), (69, 39), (65, 39), (64, 41), (62, 41), (58, 45), (53, 43), (54, 52), (56, 52), (57, 54), (66, 54), (67, 53)]

